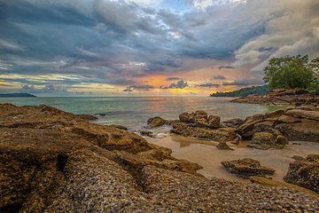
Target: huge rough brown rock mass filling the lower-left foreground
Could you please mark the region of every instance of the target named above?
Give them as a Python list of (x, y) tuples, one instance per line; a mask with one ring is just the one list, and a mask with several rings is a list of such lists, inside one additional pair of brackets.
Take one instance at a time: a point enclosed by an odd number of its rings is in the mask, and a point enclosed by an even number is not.
[(1, 212), (319, 210), (314, 194), (202, 177), (198, 164), (170, 149), (88, 119), (51, 106), (0, 105)]

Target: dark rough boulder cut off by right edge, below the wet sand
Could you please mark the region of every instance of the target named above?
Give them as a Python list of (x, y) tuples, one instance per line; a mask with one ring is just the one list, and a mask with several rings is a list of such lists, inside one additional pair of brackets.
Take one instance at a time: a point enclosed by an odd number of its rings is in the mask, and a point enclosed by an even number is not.
[(284, 182), (319, 193), (319, 154), (309, 154), (304, 160), (291, 162)]

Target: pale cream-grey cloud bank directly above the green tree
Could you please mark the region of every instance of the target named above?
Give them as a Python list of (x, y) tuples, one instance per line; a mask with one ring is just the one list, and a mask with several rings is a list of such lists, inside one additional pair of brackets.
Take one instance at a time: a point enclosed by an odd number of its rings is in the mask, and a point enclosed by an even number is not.
[(256, 14), (254, 19), (265, 22), (265, 33), (253, 37), (235, 51), (236, 61), (233, 66), (252, 65), (251, 71), (254, 74), (263, 74), (268, 60), (274, 57), (297, 54), (317, 57), (318, 10), (319, 2), (314, 0), (271, 0), (258, 5), (248, 1), (243, 12), (252, 17)]

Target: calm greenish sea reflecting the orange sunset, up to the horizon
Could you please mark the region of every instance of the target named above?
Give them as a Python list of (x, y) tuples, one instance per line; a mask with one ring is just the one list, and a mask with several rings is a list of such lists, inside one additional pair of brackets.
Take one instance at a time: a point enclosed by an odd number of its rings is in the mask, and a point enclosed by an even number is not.
[(204, 110), (208, 114), (221, 117), (222, 121), (231, 118), (245, 118), (253, 114), (264, 114), (278, 106), (259, 106), (231, 103), (233, 98), (186, 97), (186, 98), (0, 98), (0, 103), (16, 106), (49, 105), (74, 114), (97, 114), (97, 123), (120, 124), (129, 130), (141, 130), (148, 118), (161, 116), (164, 119), (178, 119), (178, 114)]

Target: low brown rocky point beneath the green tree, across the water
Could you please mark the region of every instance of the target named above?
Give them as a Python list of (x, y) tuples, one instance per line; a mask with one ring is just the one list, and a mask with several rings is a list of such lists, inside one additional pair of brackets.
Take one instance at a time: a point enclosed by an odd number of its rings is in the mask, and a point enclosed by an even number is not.
[(231, 100), (234, 103), (247, 103), (275, 106), (319, 106), (319, 96), (302, 90), (278, 89), (267, 95), (249, 95)]

